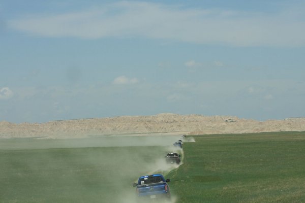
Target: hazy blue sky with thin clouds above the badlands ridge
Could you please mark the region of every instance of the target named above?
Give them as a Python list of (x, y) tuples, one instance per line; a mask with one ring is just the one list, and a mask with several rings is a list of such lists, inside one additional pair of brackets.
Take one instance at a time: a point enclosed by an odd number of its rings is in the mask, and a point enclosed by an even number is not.
[(305, 1), (0, 0), (0, 121), (305, 117)]

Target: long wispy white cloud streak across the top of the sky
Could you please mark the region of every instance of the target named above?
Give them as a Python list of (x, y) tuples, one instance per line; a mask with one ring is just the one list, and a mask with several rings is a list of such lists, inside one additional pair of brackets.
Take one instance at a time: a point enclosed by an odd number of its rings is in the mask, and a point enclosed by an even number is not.
[[(303, 6), (303, 5), (301, 5)], [(267, 13), (118, 2), (101, 8), (10, 20), (8, 27), (44, 37), (146, 37), (233, 46), (304, 46), (300, 8)]]

